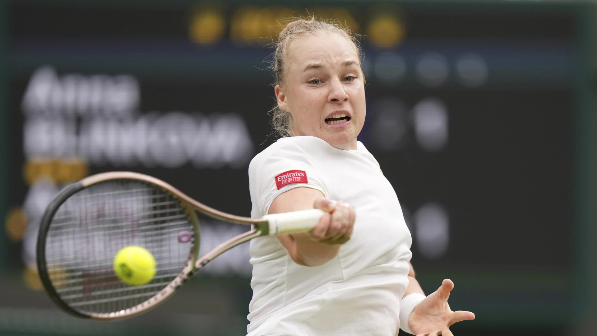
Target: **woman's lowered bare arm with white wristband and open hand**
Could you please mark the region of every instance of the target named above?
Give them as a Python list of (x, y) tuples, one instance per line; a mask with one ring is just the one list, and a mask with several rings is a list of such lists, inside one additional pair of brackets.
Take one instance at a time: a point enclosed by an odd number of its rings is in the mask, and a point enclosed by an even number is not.
[[(450, 292), (454, 289), (454, 283), (445, 279), (439, 289), (422, 301), (423, 289), (415, 278), (413, 265), (408, 263), (408, 287), (404, 292), (400, 304), (401, 329), (420, 336), (454, 336), (450, 326), (463, 320), (475, 319), (475, 314), (470, 311), (452, 311), (448, 305)], [(409, 297), (409, 295), (411, 295)], [(413, 307), (418, 301), (417, 306)], [(404, 311), (403, 311), (404, 310)], [(412, 313), (410, 313), (412, 311)], [(403, 320), (404, 319), (404, 320)]]

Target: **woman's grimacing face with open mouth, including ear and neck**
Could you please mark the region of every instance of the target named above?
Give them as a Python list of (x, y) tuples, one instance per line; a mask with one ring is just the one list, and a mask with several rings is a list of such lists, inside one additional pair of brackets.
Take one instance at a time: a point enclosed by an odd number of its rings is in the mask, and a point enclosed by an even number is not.
[(365, 83), (352, 42), (321, 33), (289, 45), (278, 106), (290, 113), (291, 134), (310, 135), (340, 149), (356, 149), (365, 122)]

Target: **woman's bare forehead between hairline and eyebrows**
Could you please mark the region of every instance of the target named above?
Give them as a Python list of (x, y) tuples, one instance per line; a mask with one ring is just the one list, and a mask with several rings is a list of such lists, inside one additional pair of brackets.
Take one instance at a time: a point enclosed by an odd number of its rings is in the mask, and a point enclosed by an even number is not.
[(308, 63), (334, 66), (348, 60), (359, 62), (352, 41), (337, 33), (319, 33), (293, 41), (290, 45), (290, 69), (302, 69)]

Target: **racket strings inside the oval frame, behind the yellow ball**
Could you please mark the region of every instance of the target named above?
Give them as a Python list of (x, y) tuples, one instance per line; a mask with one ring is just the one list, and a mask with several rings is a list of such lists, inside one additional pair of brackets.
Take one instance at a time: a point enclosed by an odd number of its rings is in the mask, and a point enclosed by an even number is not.
[[(190, 234), (180, 240), (179, 235)], [(160, 292), (186, 265), (195, 230), (180, 202), (143, 182), (103, 182), (69, 197), (47, 233), (48, 275), (68, 306), (85, 314), (137, 306)], [(188, 236), (187, 236), (188, 237)], [(130, 286), (116, 276), (114, 257), (141, 246), (155, 258), (153, 279)]]

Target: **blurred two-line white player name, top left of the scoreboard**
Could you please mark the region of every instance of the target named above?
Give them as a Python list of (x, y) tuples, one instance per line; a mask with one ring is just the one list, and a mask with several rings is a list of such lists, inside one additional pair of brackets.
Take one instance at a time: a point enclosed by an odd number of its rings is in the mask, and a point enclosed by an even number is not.
[(81, 157), (114, 167), (190, 163), (199, 168), (246, 167), (253, 142), (235, 113), (140, 115), (140, 87), (131, 75), (33, 72), (23, 95), (26, 158)]

